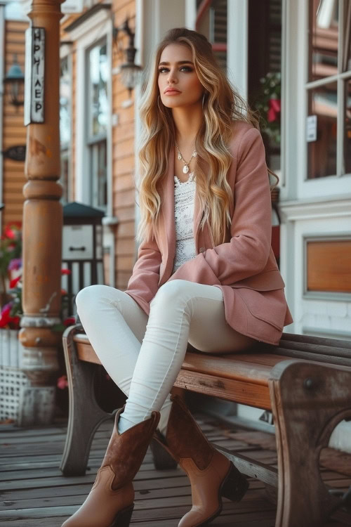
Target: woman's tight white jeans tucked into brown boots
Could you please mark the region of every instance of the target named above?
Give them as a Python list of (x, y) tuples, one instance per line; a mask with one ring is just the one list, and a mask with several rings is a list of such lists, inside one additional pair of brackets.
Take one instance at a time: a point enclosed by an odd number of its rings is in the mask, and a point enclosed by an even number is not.
[(169, 392), (182, 366), (187, 342), (199, 351), (228, 353), (254, 339), (225, 321), (222, 291), (213, 285), (171, 280), (150, 303), (150, 316), (125, 292), (91, 285), (77, 294), (77, 311), (105, 370), (128, 396), (119, 419), (122, 433), (161, 412), (165, 433)]

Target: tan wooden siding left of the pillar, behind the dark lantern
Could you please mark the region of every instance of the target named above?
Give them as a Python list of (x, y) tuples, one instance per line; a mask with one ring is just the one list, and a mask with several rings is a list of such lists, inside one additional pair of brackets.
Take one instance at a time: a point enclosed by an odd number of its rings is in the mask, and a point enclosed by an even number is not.
[[(5, 25), (5, 72), (13, 63), (13, 55), (17, 55), (18, 63), (25, 71), (25, 30), (27, 22), (6, 21)], [(4, 131), (3, 149), (10, 146), (24, 145), (26, 141), (26, 129), (23, 124), (23, 107), (15, 108), (7, 94), (4, 97)], [(22, 221), (23, 208), (23, 185), (26, 182), (24, 162), (4, 159), (3, 178), (3, 202), (5, 204), (2, 212), (2, 224), (11, 221)]]

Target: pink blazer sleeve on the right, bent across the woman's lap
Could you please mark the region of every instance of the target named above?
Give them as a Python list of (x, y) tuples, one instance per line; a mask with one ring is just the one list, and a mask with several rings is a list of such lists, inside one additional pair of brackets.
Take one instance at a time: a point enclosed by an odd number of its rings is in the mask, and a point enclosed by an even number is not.
[(230, 242), (206, 249), (183, 263), (171, 280), (231, 285), (265, 268), (271, 247), (272, 206), (265, 147), (258, 129), (246, 131), (233, 155), (236, 157), (237, 163), (230, 167), (230, 171), (236, 169), (230, 178), (235, 181)]

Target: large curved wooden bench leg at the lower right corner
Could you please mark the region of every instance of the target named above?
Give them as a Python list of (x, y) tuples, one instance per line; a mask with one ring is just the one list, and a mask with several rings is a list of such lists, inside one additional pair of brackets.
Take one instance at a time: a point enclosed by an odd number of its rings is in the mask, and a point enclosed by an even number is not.
[(305, 361), (274, 367), (270, 398), (278, 453), (276, 527), (320, 527), (338, 498), (319, 474), (319, 455), (351, 416), (351, 372)]

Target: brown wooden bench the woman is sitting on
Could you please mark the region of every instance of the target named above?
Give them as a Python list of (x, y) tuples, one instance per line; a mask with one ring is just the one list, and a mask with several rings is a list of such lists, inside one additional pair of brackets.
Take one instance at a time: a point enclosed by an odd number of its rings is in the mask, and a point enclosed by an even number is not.
[[(85, 473), (95, 430), (113, 413), (95, 401), (93, 377), (100, 361), (82, 328), (67, 328), (63, 344), (69, 423), (60, 469), (79, 475)], [(241, 472), (278, 488), (276, 527), (319, 527), (340, 507), (340, 497), (326, 490), (319, 475), (319, 454), (336, 424), (351, 419), (350, 341), (284, 333), (279, 346), (258, 343), (247, 353), (187, 351), (175, 386), (272, 410), (278, 470), (215, 446)], [(350, 492), (343, 498), (350, 500)]]

